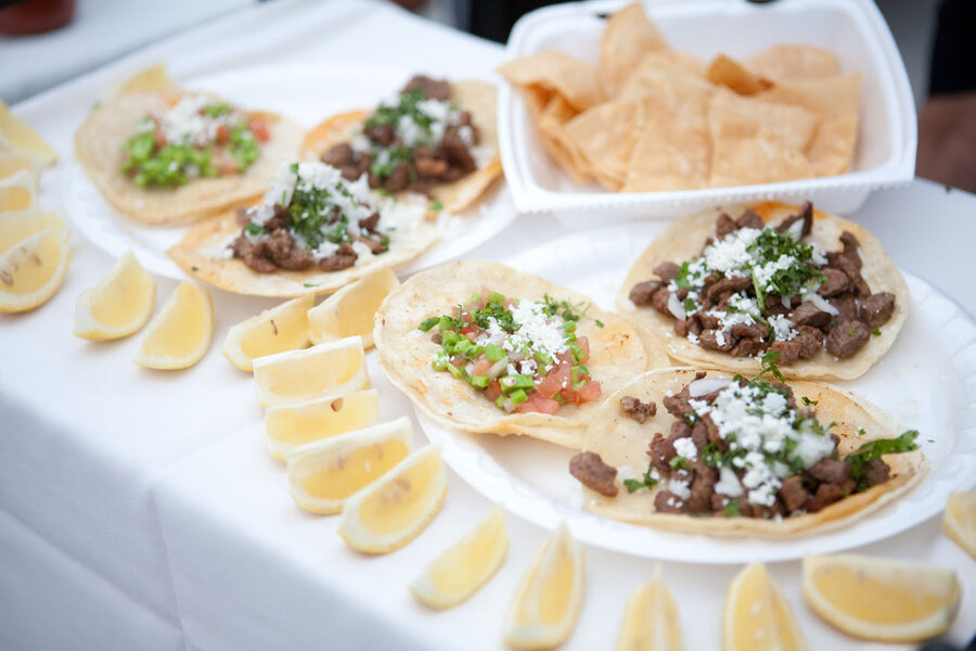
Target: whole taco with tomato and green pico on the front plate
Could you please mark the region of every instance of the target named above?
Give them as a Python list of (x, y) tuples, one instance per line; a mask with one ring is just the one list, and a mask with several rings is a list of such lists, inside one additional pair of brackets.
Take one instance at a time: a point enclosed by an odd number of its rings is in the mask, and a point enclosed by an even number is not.
[(380, 366), (446, 427), (579, 448), (603, 397), (667, 356), (577, 292), (493, 263), (454, 263), (394, 290)]

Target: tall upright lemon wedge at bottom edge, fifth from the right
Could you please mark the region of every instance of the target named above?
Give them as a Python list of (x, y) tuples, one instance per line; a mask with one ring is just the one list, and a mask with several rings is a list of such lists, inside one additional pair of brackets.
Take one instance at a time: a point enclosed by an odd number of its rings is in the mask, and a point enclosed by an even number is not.
[(562, 644), (582, 605), (583, 572), (583, 548), (563, 523), (539, 547), (515, 589), (505, 615), (505, 643), (516, 649)]

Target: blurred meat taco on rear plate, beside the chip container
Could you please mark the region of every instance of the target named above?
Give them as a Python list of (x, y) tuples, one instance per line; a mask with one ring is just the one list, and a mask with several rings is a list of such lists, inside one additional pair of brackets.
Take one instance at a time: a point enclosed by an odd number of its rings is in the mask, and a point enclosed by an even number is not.
[(314, 127), (301, 156), (333, 165), (349, 180), (367, 175), (375, 190), (423, 192), (460, 213), (502, 173), (495, 87), (418, 75), (375, 111), (343, 113)]

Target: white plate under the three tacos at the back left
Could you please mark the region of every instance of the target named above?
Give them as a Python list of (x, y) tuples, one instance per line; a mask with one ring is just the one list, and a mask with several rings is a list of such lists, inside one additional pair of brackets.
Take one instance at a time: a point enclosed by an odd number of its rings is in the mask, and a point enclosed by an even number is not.
[[(244, 106), (274, 111), (310, 128), (330, 115), (374, 105), (402, 87), (410, 76), (409, 71), (361, 65), (267, 65), (192, 77), (185, 86), (210, 90)], [(179, 242), (188, 227), (147, 227), (127, 219), (102, 197), (74, 159), (67, 182), (68, 216), (95, 246), (115, 257), (132, 250), (153, 273), (185, 277), (166, 250)], [(491, 192), (476, 207), (449, 218), (440, 242), (406, 271), (437, 265), (474, 248), (504, 229), (515, 215), (506, 189)]]

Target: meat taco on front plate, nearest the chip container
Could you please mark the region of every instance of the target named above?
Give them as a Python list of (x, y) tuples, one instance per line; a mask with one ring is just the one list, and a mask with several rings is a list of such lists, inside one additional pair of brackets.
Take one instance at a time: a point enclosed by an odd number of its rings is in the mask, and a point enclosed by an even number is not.
[[(735, 218), (730, 217), (735, 215)], [(850, 380), (891, 347), (909, 309), (901, 272), (866, 230), (767, 203), (679, 219), (630, 269), (617, 311), (696, 368)]]

